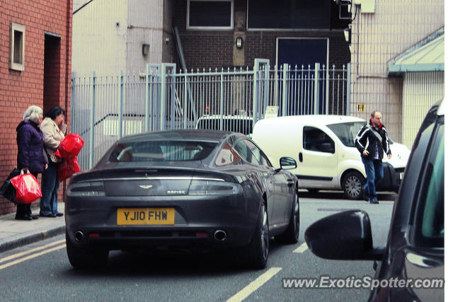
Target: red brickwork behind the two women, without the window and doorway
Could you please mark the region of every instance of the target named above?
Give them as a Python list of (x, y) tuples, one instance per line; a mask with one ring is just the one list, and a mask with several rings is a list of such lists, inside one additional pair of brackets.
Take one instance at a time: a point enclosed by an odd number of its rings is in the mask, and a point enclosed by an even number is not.
[[(9, 69), (10, 22), (25, 26), (25, 70)], [(30, 105), (41, 108), (44, 93), (45, 31), (61, 36), (59, 93), (52, 105), (70, 115), (72, 0), (6, 0), (0, 2), (0, 182), (16, 167), (16, 126)], [(58, 57), (58, 56), (57, 56)], [(47, 106), (46, 106), (47, 107)], [(69, 123), (69, 118), (67, 118)], [(60, 190), (62, 192), (63, 190)], [(60, 198), (62, 195), (60, 195)], [(38, 202), (33, 204), (36, 207)], [(16, 207), (0, 197), (0, 214)]]

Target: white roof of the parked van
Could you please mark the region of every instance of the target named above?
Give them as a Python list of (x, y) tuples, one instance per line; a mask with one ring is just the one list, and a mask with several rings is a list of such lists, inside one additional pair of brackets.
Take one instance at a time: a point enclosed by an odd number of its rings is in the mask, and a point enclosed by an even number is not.
[(287, 117), (274, 117), (270, 119), (259, 120), (257, 124), (278, 124), (290, 122), (292, 124), (338, 124), (342, 122), (366, 122), (360, 117), (349, 115), (291, 115)]

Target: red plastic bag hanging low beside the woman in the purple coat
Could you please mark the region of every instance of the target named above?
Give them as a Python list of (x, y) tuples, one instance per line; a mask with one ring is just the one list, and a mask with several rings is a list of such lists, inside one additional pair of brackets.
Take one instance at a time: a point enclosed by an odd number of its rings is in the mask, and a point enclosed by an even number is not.
[(17, 175), (11, 178), (11, 183), (16, 189), (15, 202), (18, 204), (31, 204), (42, 197), (41, 187), (38, 180), (30, 173)]

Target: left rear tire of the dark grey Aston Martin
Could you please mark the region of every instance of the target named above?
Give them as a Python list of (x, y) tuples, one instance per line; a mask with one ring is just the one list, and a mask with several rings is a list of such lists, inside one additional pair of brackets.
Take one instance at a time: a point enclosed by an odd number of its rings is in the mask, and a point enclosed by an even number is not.
[(108, 259), (108, 250), (96, 248), (79, 248), (69, 239), (66, 233), (66, 251), (69, 262), (74, 269), (96, 269), (103, 267)]

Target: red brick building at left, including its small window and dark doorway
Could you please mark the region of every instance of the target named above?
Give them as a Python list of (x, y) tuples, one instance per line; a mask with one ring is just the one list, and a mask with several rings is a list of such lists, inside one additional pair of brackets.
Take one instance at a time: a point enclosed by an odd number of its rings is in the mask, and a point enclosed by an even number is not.
[[(67, 110), (71, 98), (72, 0), (0, 2), (0, 180), (17, 163), (16, 126), (30, 105)], [(62, 191), (62, 190), (61, 190)], [(61, 196), (60, 196), (61, 197)], [(35, 205), (38, 202), (35, 202)], [(16, 206), (0, 197), (0, 214)]]

